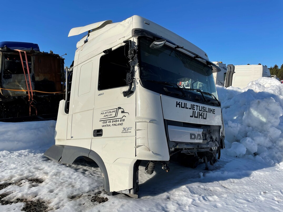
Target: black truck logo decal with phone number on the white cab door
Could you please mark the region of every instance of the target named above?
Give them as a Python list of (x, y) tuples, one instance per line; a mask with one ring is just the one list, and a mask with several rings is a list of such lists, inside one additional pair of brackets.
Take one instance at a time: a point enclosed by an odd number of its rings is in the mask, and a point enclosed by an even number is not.
[(110, 110), (103, 110), (100, 113), (102, 127), (122, 126), (129, 113), (125, 112), (124, 108), (117, 107)]

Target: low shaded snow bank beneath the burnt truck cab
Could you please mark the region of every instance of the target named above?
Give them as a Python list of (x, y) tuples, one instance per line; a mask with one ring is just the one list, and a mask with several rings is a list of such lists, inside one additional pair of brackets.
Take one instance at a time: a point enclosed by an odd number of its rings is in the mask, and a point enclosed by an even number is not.
[(55, 121), (0, 122), (0, 151), (38, 149), (55, 144)]

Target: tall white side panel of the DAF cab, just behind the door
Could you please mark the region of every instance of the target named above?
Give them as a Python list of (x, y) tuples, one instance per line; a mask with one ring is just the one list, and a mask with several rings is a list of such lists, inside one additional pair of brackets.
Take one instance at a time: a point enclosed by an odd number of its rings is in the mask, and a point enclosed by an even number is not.
[[(73, 105), (70, 108), (72, 115), (68, 117), (71, 140), (69, 145), (91, 148), (93, 108), (95, 101), (96, 87), (96, 58), (89, 59), (74, 68), (73, 81), (76, 81), (72, 88), (74, 90)], [(72, 89), (71, 88), (71, 89)]]

